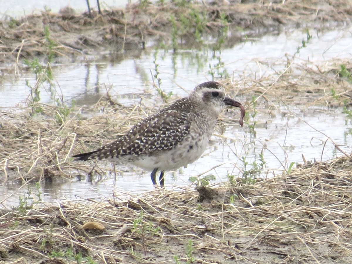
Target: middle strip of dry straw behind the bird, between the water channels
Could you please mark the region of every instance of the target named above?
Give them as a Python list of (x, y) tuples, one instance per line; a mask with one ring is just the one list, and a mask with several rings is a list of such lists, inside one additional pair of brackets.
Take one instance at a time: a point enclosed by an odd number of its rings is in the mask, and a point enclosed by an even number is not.
[[(302, 111), (312, 105), (345, 105), (348, 108), (352, 84), (348, 79), (339, 76), (338, 65), (346, 63), (349, 70), (352, 66), (343, 61), (329, 63), (330, 65), (324, 65), (325, 69), (322, 66), (291, 64), (283, 72), (262, 77), (244, 74), (233, 84), (233, 80), (225, 82), (228, 83), (230, 96), (238, 98), (246, 106), (248, 113), (253, 111), (253, 96), (258, 101), (256, 110), (259, 115), (275, 112), (282, 104), (298, 105)], [(33, 107), (41, 108), (42, 112), (32, 115)], [(2, 182), (45, 181), (57, 176), (69, 178), (77, 174), (104, 175), (107, 170), (112, 169), (111, 166), (98, 163), (92, 168), (89, 164), (73, 162), (70, 157), (80, 151), (89, 151), (112, 142), (133, 124), (156, 110), (155, 107), (144, 105), (118, 105), (107, 92), (92, 107), (83, 110), (77, 107), (70, 109), (70, 115), (66, 118), (60, 115), (60, 111), (58, 106), (33, 104), (29, 101), (26, 106), (1, 112)], [(82, 111), (94, 115), (84, 118)], [(238, 111), (224, 114), (227, 117), (220, 117), (220, 125), (226, 125), (229, 120), (238, 122)]]

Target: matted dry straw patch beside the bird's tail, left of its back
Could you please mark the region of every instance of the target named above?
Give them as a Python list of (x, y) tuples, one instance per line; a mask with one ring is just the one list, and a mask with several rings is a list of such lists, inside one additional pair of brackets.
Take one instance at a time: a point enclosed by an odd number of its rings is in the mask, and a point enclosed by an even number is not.
[[(94, 111), (105, 108), (110, 103), (100, 101), (93, 107)], [(58, 108), (52, 105), (35, 103), (36, 107), (43, 109), (42, 113), (31, 117), (32, 106), (20, 111), (12, 109), (2, 112), (0, 134), (3, 137), (0, 145), (1, 167), (6, 182), (45, 181), (45, 179), (72, 177), (76, 170), (71, 164), (70, 156), (78, 149), (88, 150), (91, 147), (101, 146), (103, 142), (111, 142), (116, 131), (123, 132), (140, 118), (136, 108), (127, 109), (119, 107), (104, 111), (102, 115), (83, 119), (80, 110), (72, 112), (71, 117), (63, 124), (58, 122), (55, 115)], [(116, 113), (115, 111), (118, 111)], [(130, 117), (128, 117), (130, 115)], [(77, 136), (83, 140), (77, 142)], [(87, 137), (88, 136), (88, 137)], [(73, 151), (74, 149), (74, 151)], [(85, 166), (76, 164), (82, 173), (89, 173)], [(100, 173), (99, 165), (95, 172)]]

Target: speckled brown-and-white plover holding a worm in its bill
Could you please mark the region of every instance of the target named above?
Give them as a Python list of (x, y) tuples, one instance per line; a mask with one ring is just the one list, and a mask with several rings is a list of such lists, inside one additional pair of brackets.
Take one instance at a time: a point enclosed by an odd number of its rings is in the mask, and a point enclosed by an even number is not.
[(225, 87), (208, 81), (197, 85), (188, 97), (134, 125), (124, 136), (97, 150), (74, 155), (75, 161), (108, 159), (132, 164), (151, 171), (156, 186), (164, 186), (165, 171), (186, 167), (205, 151), (221, 111), (227, 106), (239, 107), (239, 124), (243, 126), (245, 108), (240, 102), (225, 97)]

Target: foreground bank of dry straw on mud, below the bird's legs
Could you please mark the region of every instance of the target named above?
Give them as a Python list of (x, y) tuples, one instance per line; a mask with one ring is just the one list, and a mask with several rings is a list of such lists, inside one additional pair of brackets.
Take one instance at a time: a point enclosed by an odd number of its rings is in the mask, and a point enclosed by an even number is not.
[[(63, 201), (0, 216), (3, 263), (351, 263), (352, 158), (290, 175), (126, 201)], [(141, 217), (140, 213), (143, 212)], [(83, 230), (86, 222), (105, 230)], [(193, 251), (186, 253), (189, 241)], [(82, 254), (82, 256), (80, 256)], [(92, 262), (90, 262), (92, 263)]]

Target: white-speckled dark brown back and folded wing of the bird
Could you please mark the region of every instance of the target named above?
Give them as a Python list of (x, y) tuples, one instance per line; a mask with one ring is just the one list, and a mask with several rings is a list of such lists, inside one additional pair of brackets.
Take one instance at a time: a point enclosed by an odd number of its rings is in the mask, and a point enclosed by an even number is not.
[(188, 98), (177, 100), (171, 106), (133, 126), (118, 140), (93, 151), (84, 160), (116, 159), (126, 155), (138, 157), (142, 154), (170, 150), (189, 134), (188, 115), (191, 108)]

